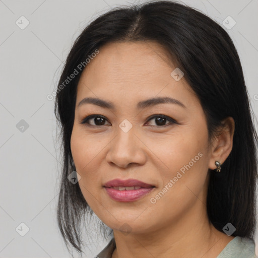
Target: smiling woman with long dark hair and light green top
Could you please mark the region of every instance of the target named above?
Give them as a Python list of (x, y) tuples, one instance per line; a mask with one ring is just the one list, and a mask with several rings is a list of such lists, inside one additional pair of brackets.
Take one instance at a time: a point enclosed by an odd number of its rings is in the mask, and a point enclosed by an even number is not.
[(100, 258), (254, 257), (257, 135), (221, 26), (167, 1), (114, 9), (77, 38), (58, 85), (67, 245), (82, 253), (94, 212), (113, 236)]

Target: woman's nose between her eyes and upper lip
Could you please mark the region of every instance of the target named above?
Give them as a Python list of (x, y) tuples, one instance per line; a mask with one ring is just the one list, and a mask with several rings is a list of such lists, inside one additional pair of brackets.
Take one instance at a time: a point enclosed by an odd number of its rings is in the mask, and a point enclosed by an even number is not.
[(146, 147), (140, 137), (135, 135), (133, 127), (127, 133), (118, 128), (109, 146), (106, 161), (121, 168), (127, 168), (130, 164), (143, 165), (147, 160)]

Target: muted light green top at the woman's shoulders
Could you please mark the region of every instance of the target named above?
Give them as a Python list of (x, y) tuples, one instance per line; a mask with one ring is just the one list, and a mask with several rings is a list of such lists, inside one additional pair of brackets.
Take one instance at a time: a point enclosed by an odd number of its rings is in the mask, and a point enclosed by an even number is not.
[[(115, 249), (115, 241), (112, 238), (106, 247), (95, 258), (111, 258)], [(255, 244), (250, 238), (235, 236), (220, 252), (217, 258), (257, 258), (255, 256)]]

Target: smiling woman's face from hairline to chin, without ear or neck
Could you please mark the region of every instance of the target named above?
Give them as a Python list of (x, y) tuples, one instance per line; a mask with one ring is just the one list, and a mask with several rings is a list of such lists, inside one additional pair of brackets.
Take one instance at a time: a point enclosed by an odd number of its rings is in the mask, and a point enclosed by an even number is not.
[[(215, 167), (200, 101), (172, 73), (176, 67), (158, 44), (109, 43), (99, 50), (80, 78), (71, 137), (85, 200), (110, 228), (136, 233), (164, 228), (182, 216), (203, 216), (208, 168)], [(174, 101), (145, 102), (156, 98)], [(90, 115), (97, 117), (86, 121)], [(155, 187), (104, 187), (113, 179)]]

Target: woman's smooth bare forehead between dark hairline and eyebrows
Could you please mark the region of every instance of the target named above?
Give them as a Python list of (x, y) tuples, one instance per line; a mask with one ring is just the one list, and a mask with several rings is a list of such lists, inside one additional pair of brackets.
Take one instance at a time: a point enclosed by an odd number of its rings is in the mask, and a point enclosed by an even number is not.
[(89, 96), (129, 102), (158, 94), (192, 98), (193, 92), (184, 78), (176, 81), (171, 76), (175, 68), (169, 54), (155, 42), (108, 43), (84, 69), (77, 103)]

